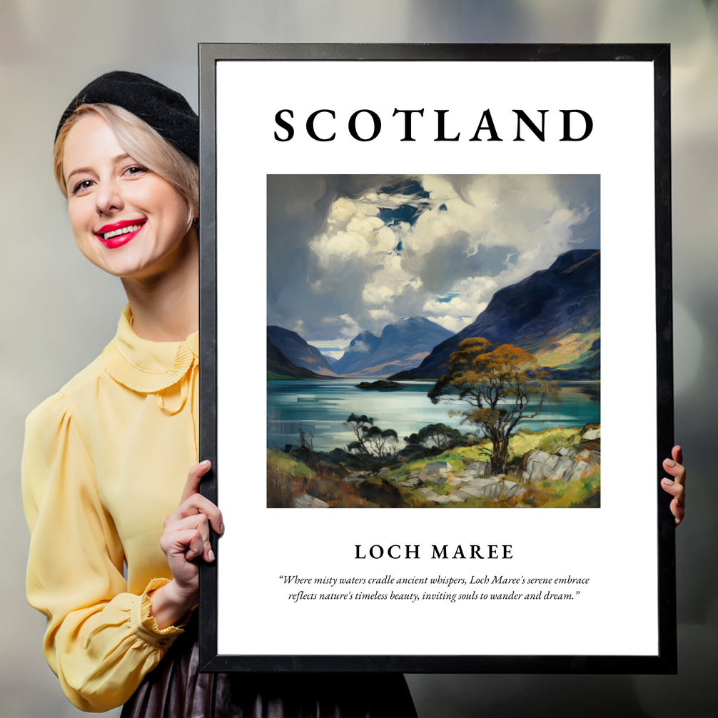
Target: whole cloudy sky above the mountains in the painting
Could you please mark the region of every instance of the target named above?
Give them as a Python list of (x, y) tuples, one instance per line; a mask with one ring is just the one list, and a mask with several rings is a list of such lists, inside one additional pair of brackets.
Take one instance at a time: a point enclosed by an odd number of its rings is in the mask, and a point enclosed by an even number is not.
[(338, 358), (423, 316), (458, 332), (503, 286), (600, 248), (597, 175), (272, 175), (268, 325)]

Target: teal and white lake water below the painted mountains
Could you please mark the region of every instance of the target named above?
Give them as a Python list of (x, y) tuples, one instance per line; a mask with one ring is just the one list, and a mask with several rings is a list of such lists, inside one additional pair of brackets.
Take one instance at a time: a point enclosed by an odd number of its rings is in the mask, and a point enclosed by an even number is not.
[[(381, 429), (394, 429), (401, 439), (426, 424), (448, 424), (472, 431), (471, 424), (461, 426), (459, 416), (449, 416), (451, 409), (465, 409), (462, 401), (439, 401), (432, 404), (426, 392), (433, 384), (426, 381), (403, 381), (406, 388), (395, 391), (372, 391), (355, 386), (360, 378), (326, 381), (267, 382), (267, 446), (298, 444), (297, 424), (314, 434), (314, 449), (328, 451), (344, 447), (355, 436), (343, 422), (354, 414), (372, 416)], [(548, 429), (577, 427), (601, 421), (600, 383), (567, 383), (559, 385), (559, 401), (546, 401), (536, 419), (526, 419), (520, 428)], [(308, 437), (307, 437), (308, 438)]]

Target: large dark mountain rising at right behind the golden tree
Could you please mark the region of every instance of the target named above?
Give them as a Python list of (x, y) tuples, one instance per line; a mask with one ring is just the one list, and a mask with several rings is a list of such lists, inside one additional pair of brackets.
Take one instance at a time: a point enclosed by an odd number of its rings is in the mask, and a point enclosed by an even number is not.
[(565, 252), (549, 269), (499, 289), (472, 324), (436, 345), (420, 365), (389, 378), (438, 379), (459, 342), (484, 337), (494, 346), (514, 344), (532, 353), (555, 379), (598, 379), (600, 280), (600, 251)]

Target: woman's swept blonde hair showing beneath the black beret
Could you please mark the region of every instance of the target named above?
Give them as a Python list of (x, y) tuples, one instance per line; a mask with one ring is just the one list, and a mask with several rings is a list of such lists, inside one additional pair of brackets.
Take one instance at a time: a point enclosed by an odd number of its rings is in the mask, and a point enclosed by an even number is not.
[(200, 204), (200, 171), (197, 164), (173, 144), (170, 144), (154, 128), (134, 113), (118, 105), (95, 104), (80, 105), (65, 124), (55, 140), (52, 151), (52, 169), (55, 172), (55, 182), (60, 192), (67, 199), (67, 185), (65, 175), (62, 173), (62, 159), (65, 154), (65, 141), (70, 129), (86, 114), (95, 113), (101, 116), (117, 137), (121, 148), (167, 180), (187, 202), (187, 230), (190, 229), (199, 212)]

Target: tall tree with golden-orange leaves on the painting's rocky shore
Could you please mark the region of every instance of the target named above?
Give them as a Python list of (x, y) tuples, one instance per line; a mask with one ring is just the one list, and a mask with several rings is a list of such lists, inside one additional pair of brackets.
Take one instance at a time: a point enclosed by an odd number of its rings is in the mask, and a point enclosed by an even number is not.
[(463, 340), (449, 357), (449, 370), (428, 396), (434, 404), (446, 398), (470, 405), (449, 414), (462, 416), (462, 424), (475, 424), (480, 435), (491, 439), (491, 472), (503, 474), (511, 435), (522, 421), (541, 411), (546, 396), (556, 398), (557, 385), (538, 368), (536, 357), (523, 349), (502, 344), (490, 351), (491, 346), (483, 337)]

